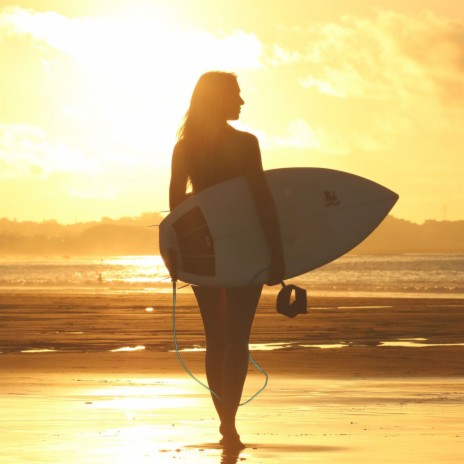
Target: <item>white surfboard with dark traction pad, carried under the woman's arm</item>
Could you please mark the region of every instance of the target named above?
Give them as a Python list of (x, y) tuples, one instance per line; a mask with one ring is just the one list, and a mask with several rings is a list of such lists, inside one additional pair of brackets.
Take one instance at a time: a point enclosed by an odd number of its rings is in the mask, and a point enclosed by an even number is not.
[[(327, 264), (363, 241), (398, 195), (371, 180), (323, 168), (265, 171), (277, 208), (290, 279)], [(248, 180), (236, 177), (192, 195), (159, 227), (160, 253), (178, 279), (240, 287), (266, 282), (269, 248)]]

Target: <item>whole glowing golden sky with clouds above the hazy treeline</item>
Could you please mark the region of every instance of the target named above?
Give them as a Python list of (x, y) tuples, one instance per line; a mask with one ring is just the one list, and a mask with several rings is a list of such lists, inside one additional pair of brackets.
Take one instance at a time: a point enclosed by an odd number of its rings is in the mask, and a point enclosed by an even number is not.
[(0, 0), (0, 218), (168, 208), (197, 78), (239, 76), (266, 169), (352, 172), (464, 219), (460, 0)]

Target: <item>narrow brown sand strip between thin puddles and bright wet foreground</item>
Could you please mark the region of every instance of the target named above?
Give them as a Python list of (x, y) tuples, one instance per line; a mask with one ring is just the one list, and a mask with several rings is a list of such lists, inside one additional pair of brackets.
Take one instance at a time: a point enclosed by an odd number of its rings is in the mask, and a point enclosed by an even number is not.
[[(271, 377), (307, 379), (464, 378), (463, 347), (288, 350), (252, 356)], [(204, 377), (203, 354), (183, 356)], [(3, 353), (2, 373), (100, 373), (188, 378), (175, 353)], [(254, 373), (250, 365), (251, 376)]]

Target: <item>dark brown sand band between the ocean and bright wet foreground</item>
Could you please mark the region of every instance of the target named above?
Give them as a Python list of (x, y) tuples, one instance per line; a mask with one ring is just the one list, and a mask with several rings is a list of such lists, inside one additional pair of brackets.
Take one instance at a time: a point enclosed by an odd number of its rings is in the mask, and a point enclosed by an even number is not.
[[(271, 375), (464, 376), (464, 346), (453, 346), (464, 343), (464, 299), (313, 295), (308, 306), (307, 315), (288, 319), (275, 312), (275, 292), (263, 294), (251, 335), (251, 344), (261, 349), (252, 355)], [(170, 295), (161, 293), (2, 294), (0, 372), (186, 375), (171, 351), (171, 322)], [(178, 295), (177, 330), (181, 350), (204, 346), (190, 290)], [(420, 344), (382, 346), (400, 340)], [(338, 348), (320, 348), (331, 345)], [(56, 351), (21, 352), (26, 349)], [(203, 352), (182, 357), (203, 375)]]

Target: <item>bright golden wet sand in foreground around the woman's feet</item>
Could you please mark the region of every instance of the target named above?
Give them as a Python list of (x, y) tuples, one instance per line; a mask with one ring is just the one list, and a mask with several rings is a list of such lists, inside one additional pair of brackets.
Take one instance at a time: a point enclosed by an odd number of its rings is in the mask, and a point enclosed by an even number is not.
[[(248, 387), (258, 382), (252, 377)], [(4, 373), (0, 460), (457, 464), (463, 398), (462, 382), (450, 378), (274, 378), (239, 410), (247, 448), (237, 452), (209, 441), (219, 433), (208, 395), (185, 379)]]

